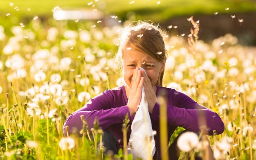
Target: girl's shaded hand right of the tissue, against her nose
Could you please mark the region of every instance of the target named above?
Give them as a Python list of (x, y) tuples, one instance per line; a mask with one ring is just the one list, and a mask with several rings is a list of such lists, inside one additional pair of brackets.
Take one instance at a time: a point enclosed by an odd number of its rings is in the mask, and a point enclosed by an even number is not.
[(147, 77), (144, 71), (142, 71), (142, 77), (144, 77), (143, 86), (144, 86), (144, 91), (147, 99), (148, 111), (152, 113), (153, 108), (157, 102), (156, 93), (154, 88), (152, 87), (150, 79)]

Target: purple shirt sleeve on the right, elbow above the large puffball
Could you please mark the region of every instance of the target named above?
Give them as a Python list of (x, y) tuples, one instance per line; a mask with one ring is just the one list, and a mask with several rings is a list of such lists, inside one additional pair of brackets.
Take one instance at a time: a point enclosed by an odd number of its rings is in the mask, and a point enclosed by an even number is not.
[[(155, 104), (151, 117), (159, 120), (160, 105)], [(169, 125), (180, 126), (185, 129), (200, 132), (205, 129), (204, 134), (213, 135), (224, 132), (224, 123), (219, 115), (207, 107), (194, 101), (182, 92), (174, 89), (167, 94), (167, 121)]]

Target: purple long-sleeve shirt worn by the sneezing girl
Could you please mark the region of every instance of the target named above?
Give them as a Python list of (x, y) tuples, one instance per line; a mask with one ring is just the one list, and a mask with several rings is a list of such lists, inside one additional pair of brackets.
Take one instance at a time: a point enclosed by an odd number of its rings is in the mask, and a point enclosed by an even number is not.
[[(217, 113), (210, 109), (199, 105), (186, 94), (176, 91), (175, 89), (157, 86), (156, 95), (166, 93), (167, 101), (167, 122), (168, 122), (168, 139), (170, 139), (174, 130), (180, 126), (185, 129), (200, 132), (200, 126), (206, 125), (208, 135), (221, 134), (224, 131), (224, 123)], [(126, 114), (129, 114), (129, 129), (127, 140), (130, 138), (131, 123), (135, 115), (130, 116), (128, 106), (128, 98), (125, 92), (125, 87), (120, 86), (113, 90), (106, 90), (98, 96), (91, 99), (84, 107), (72, 113), (65, 121), (63, 126), (63, 133), (67, 135), (65, 126), (69, 126), (69, 133), (72, 130), (79, 131), (83, 127), (81, 115), (84, 115), (87, 121), (88, 129), (94, 127), (95, 117), (98, 117), (99, 126), (101, 129), (108, 129), (118, 140), (120, 140), (120, 147), (123, 147), (123, 132), (122, 123)], [(160, 158), (160, 137), (159, 137), (159, 108), (158, 103), (155, 104), (152, 114), (150, 114), (152, 129), (157, 132), (154, 135), (156, 141), (156, 153), (158, 152), (158, 159)], [(81, 135), (82, 136), (82, 135)], [(168, 143), (168, 142), (166, 142)]]

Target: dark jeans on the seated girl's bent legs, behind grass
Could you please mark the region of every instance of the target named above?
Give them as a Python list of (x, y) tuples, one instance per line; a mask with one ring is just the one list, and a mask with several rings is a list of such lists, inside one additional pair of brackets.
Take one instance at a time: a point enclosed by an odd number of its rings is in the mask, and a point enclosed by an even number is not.
[[(103, 136), (102, 136), (102, 143), (103, 143), (103, 146), (105, 147), (105, 153), (108, 153), (109, 151), (111, 151), (111, 154), (114, 154), (114, 155), (117, 154), (118, 153), (118, 149), (119, 149), (119, 145), (118, 145), (119, 142), (118, 142), (116, 136), (113, 133), (111, 133), (109, 130), (107, 130), (107, 129), (105, 129), (103, 131), (104, 131), (104, 133), (103, 133)], [(181, 150), (177, 146), (177, 140), (179, 139), (180, 135), (182, 135), (183, 133), (188, 132), (188, 131), (189, 130), (182, 131), (176, 137), (176, 139), (172, 142), (170, 147), (168, 148), (169, 160), (178, 160), (179, 159), (179, 156), (181, 154)], [(199, 135), (198, 132), (195, 132), (195, 133)], [(205, 135), (202, 135), (202, 136), (205, 136)], [(210, 146), (210, 142), (209, 142), (209, 145), (207, 147), (208, 147), (208, 151), (209, 151), (207, 159), (215, 160), (214, 155), (213, 155), (213, 151), (212, 151), (211, 146)], [(156, 154), (157, 154), (157, 152), (155, 153), (154, 157), (157, 157)], [(156, 158), (154, 158), (154, 159), (156, 159)], [(201, 159), (202, 158), (199, 157), (199, 156), (195, 157), (195, 160), (201, 160)]]

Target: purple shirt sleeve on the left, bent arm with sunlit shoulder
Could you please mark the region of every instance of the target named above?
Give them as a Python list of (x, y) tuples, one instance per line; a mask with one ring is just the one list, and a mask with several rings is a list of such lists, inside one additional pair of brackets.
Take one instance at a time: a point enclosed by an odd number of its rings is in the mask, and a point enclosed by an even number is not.
[(77, 135), (81, 135), (79, 134), (83, 128), (81, 115), (84, 116), (87, 128), (90, 131), (94, 127), (95, 117), (98, 117), (101, 129), (105, 129), (115, 123), (122, 123), (127, 113), (130, 114), (126, 105), (114, 106), (114, 95), (108, 90), (94, 97), (84, 107), (70, 114), (63, 125), (63, 133), (67, 136), (65, 127), (69, 126), (69, 134), (76, 132)]

